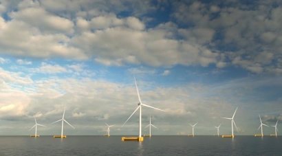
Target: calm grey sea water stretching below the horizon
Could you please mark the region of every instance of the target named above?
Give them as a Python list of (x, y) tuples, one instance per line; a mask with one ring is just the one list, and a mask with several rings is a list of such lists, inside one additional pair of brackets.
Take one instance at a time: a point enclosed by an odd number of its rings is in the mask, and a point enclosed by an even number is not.
[(282, 137), (152, 136), (122, 142), (122, 136), (1, 136), (0, 155), (282, 155)]

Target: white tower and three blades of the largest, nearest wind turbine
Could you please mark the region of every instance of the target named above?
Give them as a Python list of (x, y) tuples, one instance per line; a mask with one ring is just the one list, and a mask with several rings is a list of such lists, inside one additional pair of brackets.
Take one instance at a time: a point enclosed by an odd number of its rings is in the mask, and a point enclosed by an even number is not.
[[(135, 109), (135, 111), (133, 111), (133, 113), (129, 116), (129, 118), (127, 119), (127, 121), (128, 121), (128, 120), (131, 118), (131, 116), (139, 109), (139, 137), (137, 138), (137, 140), (138, 140), (139, 142), (142, 142), (142, 141), (143, 141), (143, 137), (141, 137), (141, 135), (142, 135), (142, 134), (141, 134), (141, 133), (142, 133), (142, 126), (141, 126), (141, 123), (142, 123), (142, 121), (141, 121), (141, 120), (142, 120), (142, 111), (141, 111), (141, 108), (142, 108), (142, 106), (144, 106), (144, 107), (150, 107), (150, 108), (152, 108), (152, 109), (157, 109), (157, 108), (148, 106), (147, 104), (143, 104), (143, 103), (141, 102), (141, 98), (140, 98), (140, 95), (139, 95), (139, 91), (138, 91), (137, 83), (136, 83), (136, 80), (135, 80), (135, 76), (134, 76), (134, 81), (135, 81), (135, 86), (136, 86), (136, 90), (137, 90), (137, 93), (138, 93), (139, 103), (138, 103), (137, 109)], [(162, 109), (158, 109), (158, 110), (164, 111), (164, 110), (162, 110)], [(127, 121), (124, 122), (124, 124), (127, 123)], [(122, 124), (122, 126), (123, 126), (124, 124)], [(126, 137), (124, 137), (124, 138), (125, 138), (125, 140), (127, 140)], [(122, 137), (122, 140), (124, 140), (124, 138)]]

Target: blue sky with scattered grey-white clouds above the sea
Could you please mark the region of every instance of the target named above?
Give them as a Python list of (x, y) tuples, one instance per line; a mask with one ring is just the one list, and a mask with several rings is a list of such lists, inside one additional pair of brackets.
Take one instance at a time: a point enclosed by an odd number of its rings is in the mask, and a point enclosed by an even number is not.
[[(282, 2), (0, 0), (0, 135), (282, 128)], [(122, 126), (124, 124), (124, 126)], [(122, 126), (122, 127), (121, 127)], [(30, 130), (30, 131), (29, 131)], [(282, 129), (281, 129), (282, 130)], [(278, 133), (279, 134), (279, 133)]]

